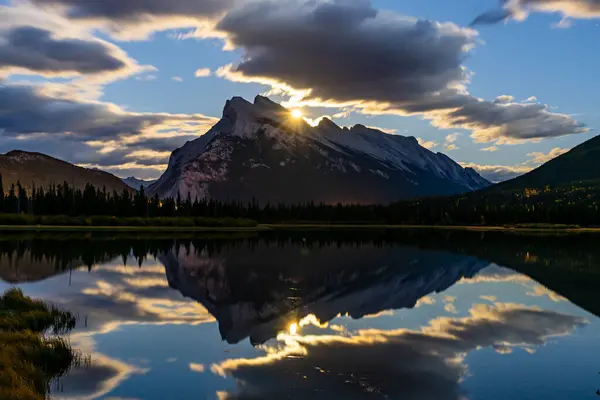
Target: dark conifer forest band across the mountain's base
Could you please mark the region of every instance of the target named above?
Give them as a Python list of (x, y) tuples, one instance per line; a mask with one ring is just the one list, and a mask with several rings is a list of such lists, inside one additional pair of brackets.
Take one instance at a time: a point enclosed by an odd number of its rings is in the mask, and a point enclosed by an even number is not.
[[(114, 218), (243, 218), (260, 223), (353, 223), (414, 225), (600, 225), (596, 185), (547, 187), (510, 191), (483, 190), (459, 196), (403, 201), (390, 205), (259, 204), (256, 201), (212, 199), (160, 199), (144, 188), (132, 193), (107, 192), (87, 185), (74, 189), (68, 183), (25, 189), (0, 176), (0, 214), (45, 216), (97, 216)], [(110, 225), (110, 221), (105, 220)], [(1, 222), (1, 221), (0, 221)]]

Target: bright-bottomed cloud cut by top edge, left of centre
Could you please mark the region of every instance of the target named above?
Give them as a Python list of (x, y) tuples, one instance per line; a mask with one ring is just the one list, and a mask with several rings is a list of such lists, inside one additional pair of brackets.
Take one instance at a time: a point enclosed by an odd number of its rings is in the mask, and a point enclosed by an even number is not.
[(81, 1), (31, 0), (60, 10), (73, 21), (101, 27), (120, 39), (145, 39), (152, 32), (210, 25), (235, 0)]

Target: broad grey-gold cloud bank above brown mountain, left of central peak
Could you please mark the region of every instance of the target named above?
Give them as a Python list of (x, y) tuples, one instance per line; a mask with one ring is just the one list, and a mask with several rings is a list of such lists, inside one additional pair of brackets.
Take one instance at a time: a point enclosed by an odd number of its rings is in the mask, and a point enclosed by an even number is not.
[[(26, 148), (110, 171), (166, 168), (168, 152), (216, 121), (199, 114), (134, 113), (115, 104), (62, 98), (43, 87), (0, 84), (0, 149)], [(110, 168), (109, 168), (110, 167)]]

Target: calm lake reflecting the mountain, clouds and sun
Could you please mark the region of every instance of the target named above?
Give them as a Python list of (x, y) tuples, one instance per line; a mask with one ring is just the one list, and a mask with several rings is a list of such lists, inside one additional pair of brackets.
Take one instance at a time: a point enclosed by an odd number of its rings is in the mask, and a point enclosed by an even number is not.
[(57, 399), (593, 399), (600, 236), (3, 234), (78, 316)]

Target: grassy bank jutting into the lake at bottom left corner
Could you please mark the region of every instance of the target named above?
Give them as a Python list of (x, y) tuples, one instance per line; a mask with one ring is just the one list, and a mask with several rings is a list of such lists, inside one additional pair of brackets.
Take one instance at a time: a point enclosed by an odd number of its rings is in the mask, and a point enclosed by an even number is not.
[(50, 381), (79, 361), (67, 342), (55, 336), (74, 327), (71, 313), (26, 297), (20, 290), (1, 296), (0, 398), (46, 399)]

